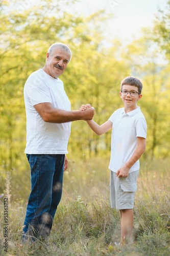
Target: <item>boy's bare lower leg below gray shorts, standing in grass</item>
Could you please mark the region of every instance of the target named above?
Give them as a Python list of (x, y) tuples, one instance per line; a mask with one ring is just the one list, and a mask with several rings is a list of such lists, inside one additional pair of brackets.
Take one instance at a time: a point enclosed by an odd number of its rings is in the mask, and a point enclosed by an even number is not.
[(124, 244), (126, 240), (132, 240), (133, 229), (133, 209), (120, 210), (121, 219), (121, 241), (120, 244)]

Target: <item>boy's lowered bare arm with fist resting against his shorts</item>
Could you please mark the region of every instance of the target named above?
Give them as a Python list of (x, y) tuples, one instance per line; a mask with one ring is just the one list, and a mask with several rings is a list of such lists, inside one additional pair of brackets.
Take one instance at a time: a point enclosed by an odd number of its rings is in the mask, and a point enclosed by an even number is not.
[(146, 139), (142, 137), (137, 137), (137, 147), (135, 152), (129, 161), (120, 169), (117, 170), (116, 176), (118, 177), (128, 177), (129, 169), (136, 163), (136, 161), (141, 157), (146, 148)]

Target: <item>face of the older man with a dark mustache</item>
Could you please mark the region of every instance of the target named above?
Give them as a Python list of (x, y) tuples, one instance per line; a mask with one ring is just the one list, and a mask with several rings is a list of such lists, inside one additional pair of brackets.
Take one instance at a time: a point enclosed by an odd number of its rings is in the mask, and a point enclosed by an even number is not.
[(66, 69), (70, 55), (61, 48), (55, 49), (51, 54), (46, 54), (46, 73), (53, 78), (58, 78)]

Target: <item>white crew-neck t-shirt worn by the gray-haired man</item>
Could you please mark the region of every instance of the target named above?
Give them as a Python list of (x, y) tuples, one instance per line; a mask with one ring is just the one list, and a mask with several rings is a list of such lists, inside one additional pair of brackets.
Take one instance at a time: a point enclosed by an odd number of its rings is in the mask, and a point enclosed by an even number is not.
[(70, 101), (63, 82), (48, 75), (42, 69), (33, 72), (24, 90), (27, 116), (26, 154), (67, 154), (71, 122), (44, 122), (34, 105), (50, 102), (54, 108), (70, 111)]

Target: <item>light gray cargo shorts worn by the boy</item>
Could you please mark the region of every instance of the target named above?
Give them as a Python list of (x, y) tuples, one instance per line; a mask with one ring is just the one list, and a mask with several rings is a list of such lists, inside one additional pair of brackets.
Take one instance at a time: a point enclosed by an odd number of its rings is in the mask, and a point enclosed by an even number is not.
[(112, 170), (110, 171), (111, 208), (116, 208), (117, 210), (133, 209), (138, 175), (139, 170), (135, 170), (126, 178), (118, 178), (116, 173), (112, 172)]

